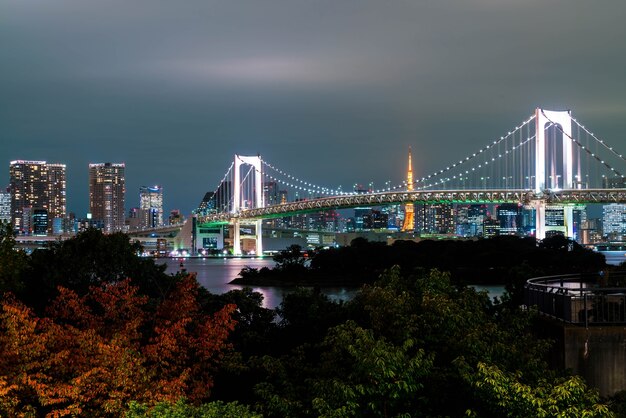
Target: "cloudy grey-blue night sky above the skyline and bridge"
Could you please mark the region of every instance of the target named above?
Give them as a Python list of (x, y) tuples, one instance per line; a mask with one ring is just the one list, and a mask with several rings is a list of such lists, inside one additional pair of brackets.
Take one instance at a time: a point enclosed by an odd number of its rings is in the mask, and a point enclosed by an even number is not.
[(9, 161), (125, 162), (188, 214), (235, 153), (349, 190), (421, 177), (571, 109), (626, 153), (624, 0), (0, 0)]

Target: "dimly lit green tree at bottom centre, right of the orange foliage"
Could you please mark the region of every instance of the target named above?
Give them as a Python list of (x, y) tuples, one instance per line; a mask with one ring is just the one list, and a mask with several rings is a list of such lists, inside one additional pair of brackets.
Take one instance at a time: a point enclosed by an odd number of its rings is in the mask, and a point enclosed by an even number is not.
[(330, 330), (313, 384), (320, 417), (400, 416), (422, 409), (433, 356), (406, 339), (394, 345), (348, 321)]

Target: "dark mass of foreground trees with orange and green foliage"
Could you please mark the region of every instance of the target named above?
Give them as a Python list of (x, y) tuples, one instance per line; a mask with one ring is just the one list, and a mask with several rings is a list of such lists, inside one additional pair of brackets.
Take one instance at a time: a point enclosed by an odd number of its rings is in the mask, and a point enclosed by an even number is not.
[[(270, 310), (250, 289), (213, 295), (193, 275), (166, 275), (122, 234), (87, 231), (31, 256), (13, 249), (10, 228), (1, 234), (2, 416), (593, 417), (620, 407), (548, 370), (532, 310), (513, 296), (494, 303), (432, 258), (375, 265), (365, 242), (320, 253), (308, 268), (324, 257), (345, 260), (336, 274), (357, 268), (341, 251), (368, 263), (356, 297), (300, 288)], [(288, 253), (281, 274), (308, 269)]]

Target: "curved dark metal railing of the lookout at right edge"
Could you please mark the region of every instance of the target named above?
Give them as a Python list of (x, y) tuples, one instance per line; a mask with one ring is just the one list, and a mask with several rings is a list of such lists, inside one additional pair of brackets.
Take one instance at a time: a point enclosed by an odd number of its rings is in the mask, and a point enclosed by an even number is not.
[(567, 323), (626, 324), (626, 287), (608, 287), (610, 282), (626, 283), (626, 272), (536, 277), (526, 282), (524, 301)]

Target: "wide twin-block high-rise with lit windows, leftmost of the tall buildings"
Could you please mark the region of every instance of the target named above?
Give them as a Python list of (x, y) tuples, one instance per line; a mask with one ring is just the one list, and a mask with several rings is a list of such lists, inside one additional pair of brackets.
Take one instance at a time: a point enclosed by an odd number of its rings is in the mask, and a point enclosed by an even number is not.
[[(32, 232), (30, 217), (42, 210), (47, 213), (46, 233), (52, 231), (54, 219), (63, 219), (66, 211), (65, 164), (45, 161), (11, 161), (9, 166), (11, 220), (20, 234)], [(25, 215), (25, 209), (26, 215)], [(28, 219), (27, 219), (28, 218)], [(41, 218), (38, 228), (41, 228)], [(41, 233), (41, 230), (39, 230)]]

